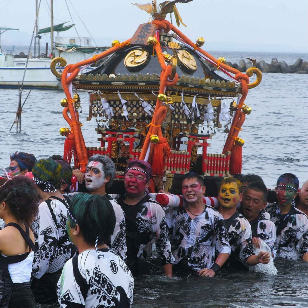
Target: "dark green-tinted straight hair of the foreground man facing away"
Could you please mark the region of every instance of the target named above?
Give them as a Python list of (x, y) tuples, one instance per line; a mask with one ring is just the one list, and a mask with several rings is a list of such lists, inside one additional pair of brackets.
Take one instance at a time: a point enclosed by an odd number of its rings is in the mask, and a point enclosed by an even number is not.
[(68, 213), (70, 227), (74, 228), (77, 223), (86, 243), (94, 245), (96, 237), (99, 237), (99, 244), (110, 241), (115, 228), (115, 212), (107, 198), (79, 193), (72, 198)]

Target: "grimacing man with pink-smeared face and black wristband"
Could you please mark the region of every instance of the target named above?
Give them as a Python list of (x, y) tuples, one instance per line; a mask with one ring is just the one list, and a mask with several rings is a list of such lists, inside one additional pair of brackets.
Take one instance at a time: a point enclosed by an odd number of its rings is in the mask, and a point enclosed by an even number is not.
[(182, 193), (187, 207), (166, 210), (174, 270), (193, 270), (201, 276), (214, 277), (231, 251), (224, 219), (204, 204), (205, 185), (199, 174), (189, 172), (184, 176)]

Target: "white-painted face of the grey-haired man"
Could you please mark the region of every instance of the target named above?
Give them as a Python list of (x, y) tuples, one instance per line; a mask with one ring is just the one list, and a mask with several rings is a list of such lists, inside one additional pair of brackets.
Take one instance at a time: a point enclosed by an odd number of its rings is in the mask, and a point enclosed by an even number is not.
[(99, 161), (90, 161), (86, 168), (86, 188), (89, 191), (95, 191), (99, 187), (103, 186), (106, 180), (105, 173), (103, 171), (103, 164)]

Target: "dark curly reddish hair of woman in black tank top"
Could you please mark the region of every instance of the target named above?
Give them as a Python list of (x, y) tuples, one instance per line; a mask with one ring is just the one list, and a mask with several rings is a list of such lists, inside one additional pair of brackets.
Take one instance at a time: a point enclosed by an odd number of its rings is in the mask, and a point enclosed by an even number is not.
[(11, 214), (30, 226), (39, 209), (39, 197), (32, 180), (14, 176), (0, 187), (0, 202), (9, 206)]

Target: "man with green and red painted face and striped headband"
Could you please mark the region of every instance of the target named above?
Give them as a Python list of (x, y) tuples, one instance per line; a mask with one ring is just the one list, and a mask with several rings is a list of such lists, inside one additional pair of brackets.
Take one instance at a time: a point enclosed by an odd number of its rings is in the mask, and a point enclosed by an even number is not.
[(308, 262), (308, 218), (295, 207), (299, 181), (292, 173), (279, 176), (276, 184), (277, 203), (266, 206), (276, 225), (277, 256)]

